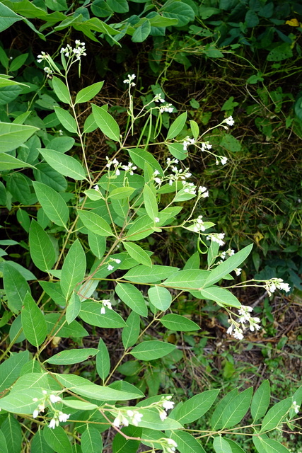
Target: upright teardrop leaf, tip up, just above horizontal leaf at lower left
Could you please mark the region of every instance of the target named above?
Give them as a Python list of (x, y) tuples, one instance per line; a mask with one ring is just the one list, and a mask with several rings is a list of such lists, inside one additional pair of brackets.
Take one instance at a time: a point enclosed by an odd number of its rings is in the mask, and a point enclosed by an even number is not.
[(47, 336), (47, 326), (42, 311), (29, 292), (24, 298), (21, 320), (26, 340), (37, 348)]

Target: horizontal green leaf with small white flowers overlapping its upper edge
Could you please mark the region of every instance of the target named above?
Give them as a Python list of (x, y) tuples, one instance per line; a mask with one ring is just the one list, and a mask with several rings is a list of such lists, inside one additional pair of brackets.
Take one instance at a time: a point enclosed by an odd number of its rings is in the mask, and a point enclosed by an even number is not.
[(79, 316), (83, 321), (91, 324), (91, 326), (119, 328), (126, 325), (122, 316), (114, 310), (106, 309), (105, 314), (100, 314), (100, 304), (96, 302), (82, 302)]

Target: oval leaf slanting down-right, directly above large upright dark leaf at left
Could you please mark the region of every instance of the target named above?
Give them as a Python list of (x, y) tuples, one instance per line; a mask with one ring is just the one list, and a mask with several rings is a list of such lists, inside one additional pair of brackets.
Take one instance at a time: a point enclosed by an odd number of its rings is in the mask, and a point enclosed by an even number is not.
[(54, 189), (43, 183), (33, 182), (33, 187), (47, 217), (59, 226), (66, 228), (69, 210), (63, 198)]

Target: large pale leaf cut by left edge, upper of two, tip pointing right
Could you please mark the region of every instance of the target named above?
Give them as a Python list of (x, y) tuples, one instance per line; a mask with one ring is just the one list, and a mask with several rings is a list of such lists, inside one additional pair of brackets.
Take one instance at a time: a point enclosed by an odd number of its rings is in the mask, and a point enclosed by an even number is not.
[(1, 122), (0, 152), (4, 153), (20, 147), (37, 130), (39, 128), (34, 126), (18, 125), (14, 122)]

